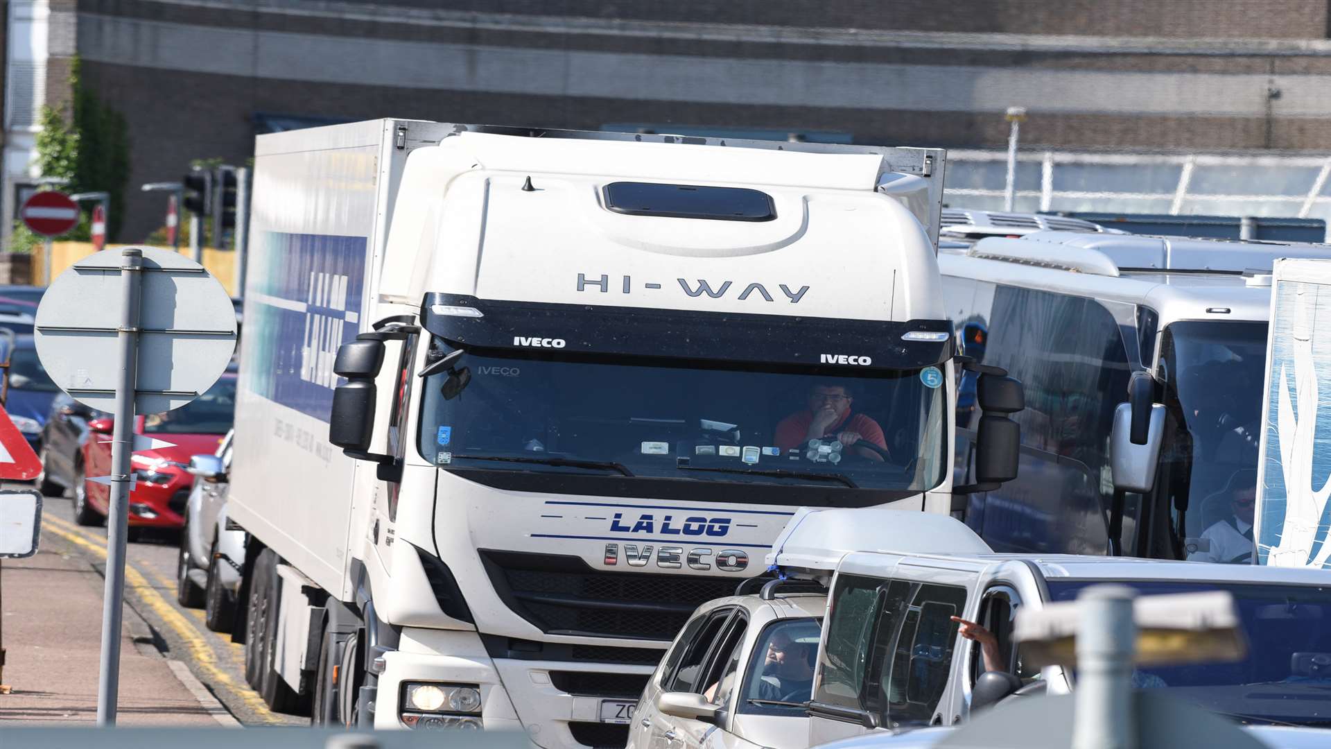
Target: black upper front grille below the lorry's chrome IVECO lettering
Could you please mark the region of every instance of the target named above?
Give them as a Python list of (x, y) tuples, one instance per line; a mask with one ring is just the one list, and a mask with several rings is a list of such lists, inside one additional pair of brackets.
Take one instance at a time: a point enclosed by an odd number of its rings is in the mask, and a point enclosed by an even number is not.
[(699, 605), (735, 581), (602, 572), (579, 557), (482, 552), (491, 582), (519, 616), (555, 634), (672, 640)]

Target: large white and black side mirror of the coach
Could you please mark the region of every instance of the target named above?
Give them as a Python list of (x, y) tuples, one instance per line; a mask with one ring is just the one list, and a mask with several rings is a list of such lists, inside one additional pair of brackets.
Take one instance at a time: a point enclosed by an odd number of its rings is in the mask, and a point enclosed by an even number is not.
[(1165, 406), (1154, 402), (1155, 382), (1137, 372), (1127, 384), (1127, 402), (1114, 410), (1109, 438), (1109, 465), (1114, 488), (1121, 492), (1150, 492), (1155, 488), (1161, 442), (1165, 434)]

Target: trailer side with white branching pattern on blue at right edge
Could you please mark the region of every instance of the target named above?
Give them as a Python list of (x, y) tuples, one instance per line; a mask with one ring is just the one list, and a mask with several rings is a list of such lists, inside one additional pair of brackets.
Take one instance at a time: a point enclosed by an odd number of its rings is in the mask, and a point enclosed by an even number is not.
[(1331, 260), (1276, 260), (1256, 484), (1256, 564), (1331, 568)]

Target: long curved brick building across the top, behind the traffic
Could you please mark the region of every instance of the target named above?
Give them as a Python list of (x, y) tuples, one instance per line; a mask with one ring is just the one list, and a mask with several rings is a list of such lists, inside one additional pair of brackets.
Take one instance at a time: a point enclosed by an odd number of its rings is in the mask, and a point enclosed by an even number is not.
[(125, 240), (161, 223), (137, 185), (190, 159), (241, 163), (256, 132), (381, 116), (993, 148), (1024, 105), (1033, 147), (1331, 151), (1320, 0), (7, 5), (11, 37), (31, 41), (21, 15), (45, 13), (49, 44), (43, 72), (7, 44), (4, 225), (28, 180), (15, 123), (60, 101), (76, 52), (129, 121)]

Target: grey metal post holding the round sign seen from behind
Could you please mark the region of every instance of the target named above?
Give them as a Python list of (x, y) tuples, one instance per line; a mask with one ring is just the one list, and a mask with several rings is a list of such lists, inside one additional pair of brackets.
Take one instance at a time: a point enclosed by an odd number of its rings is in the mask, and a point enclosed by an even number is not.
[(97, 725), (116, 725), (120, 690), (120, 617), (125, 597), (125, 540), (129, 534), (129, 456), (134, 450), (134, 389), (138, 382), (138, 300), (144, 253), (121, 251), (120, 385), (116, 388), (110, 444), (110, 513), (106, 518), (106, 592), (101, 610), (101, 674), (97, 682)]

